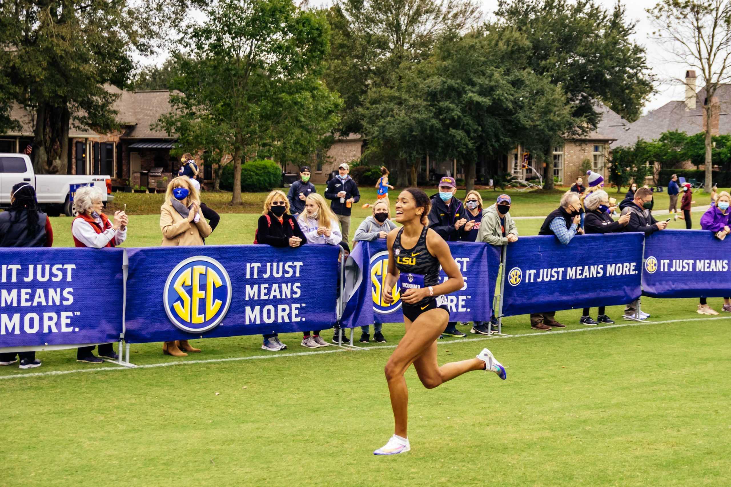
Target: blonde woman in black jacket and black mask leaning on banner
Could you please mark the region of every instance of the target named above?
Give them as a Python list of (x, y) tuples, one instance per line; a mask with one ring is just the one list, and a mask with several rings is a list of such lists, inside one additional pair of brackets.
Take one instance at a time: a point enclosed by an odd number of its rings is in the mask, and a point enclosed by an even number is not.
[[(284, 192), (275, 189), (264, 200), (264, 211), (259, 217), (254, 243), (267, 243), (274, 247), (297, 248), (307, 243), (305, 234), (294, 216), (289, 214), (289, 200)], [(279, 341), (278, 333), (267, 333), (264, 336), (262, 350), (277, 352), (286, 350), (287, 345)]]

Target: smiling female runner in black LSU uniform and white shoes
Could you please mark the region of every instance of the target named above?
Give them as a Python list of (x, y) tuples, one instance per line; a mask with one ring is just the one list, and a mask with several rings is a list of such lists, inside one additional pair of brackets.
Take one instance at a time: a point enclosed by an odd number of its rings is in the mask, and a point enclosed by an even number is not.
[[(406, 436), (409, 391), (404, 373), (412, 363), (419, 380), (428, 389), (472, 370), (495, 372), (502, 380), (506, 377), (502, 364), (486, 348), (477, 358), (446, 363), (441, 367), (436, 362), (436, 340), (450, 317), (444, 295), (461, 289), (464, 281), (449, 246), (428, 227), (429, 206), (425, 192), (415, 188), (404, 189), (395, 205), (396, 222), (404, 227), (391, 230), (387, 238), (388, 273), (383, 284), (383, 301), (393, 303), (392, 290), (398, 282), (399, 273), (412, 278), (412, 282), (420, 283), (423, 279), (423, 286), (401, 291), (406, 334), (398, 342), (385, 368), (395, 432), (386, 445), (374, 451), (374, 455), (395, 455), (411, 450)], [(439, 265), (449, 278), (442, 284), (439, 284)], [(404, 284), (407, 281), (409, 279), (403, 281)]]

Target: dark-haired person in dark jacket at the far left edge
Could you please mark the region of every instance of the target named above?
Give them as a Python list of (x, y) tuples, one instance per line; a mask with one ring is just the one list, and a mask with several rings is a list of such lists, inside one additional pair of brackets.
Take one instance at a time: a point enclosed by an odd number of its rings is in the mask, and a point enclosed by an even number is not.
[[(45, 213), (38, 208), (36, 190), (29, 183), (18, 183), (10, 192), (10, 208), (0, 213), (1, 247), (50, 247), (53, 229)], [(20, 369), (41, 366), (36, 352), (18, 352)], [(18, 360), (15, 352), (0, 353), (0, 366), (12, 365)]]

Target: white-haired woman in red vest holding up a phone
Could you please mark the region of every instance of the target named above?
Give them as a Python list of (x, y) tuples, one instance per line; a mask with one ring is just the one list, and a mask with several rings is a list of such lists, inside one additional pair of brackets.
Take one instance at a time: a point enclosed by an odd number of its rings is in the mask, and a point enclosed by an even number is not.
[[(114, 212), (114, 222), (103, 213), (102, 191), (94, 186), (77, 189), (74, 195), (74, 210), (78, 216), (71, 224), (71, 235), (77, 247), (105, 249), (115, 247), (127, 238), (127, 215), (124, 211)], [(80, 347), (76, 352), (77, 362), (102, 363), (102, 357), (117, 360), (112, 344), (99, 345), (99, 357), (94, 356), (94, 345)]]

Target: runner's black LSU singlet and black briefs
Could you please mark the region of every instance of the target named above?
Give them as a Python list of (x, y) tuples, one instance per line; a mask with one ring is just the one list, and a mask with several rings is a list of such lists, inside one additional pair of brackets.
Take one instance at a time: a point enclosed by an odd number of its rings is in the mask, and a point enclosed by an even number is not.
[[(426, 233), (428, 230), (428, 227), (424, 227), (413, 249), (404, 249), (404, 246), (401, 245), (401, 233), (404, 232), (404, 228), (398, 230), (396, 238), (393, 241), (393, 257), (396, 260), (396, 268), (398, 271), (400, 273), (412, 273), (424, 276), (424, 287), (439, 284), (439, 259), (430, 254), (426, 248)], [(438, 298), (443, 297), (439, 296)], [(442, 301), (442, 299), (437, 300), (436, 296), (428, 296), (418, 303), (404, 303), (404, 316), (414, 321), (422, 312), (436, 307), (442, 307), (440, 306)], [(444, 309), (446, 309), (446, 306), (444, 306)]]

